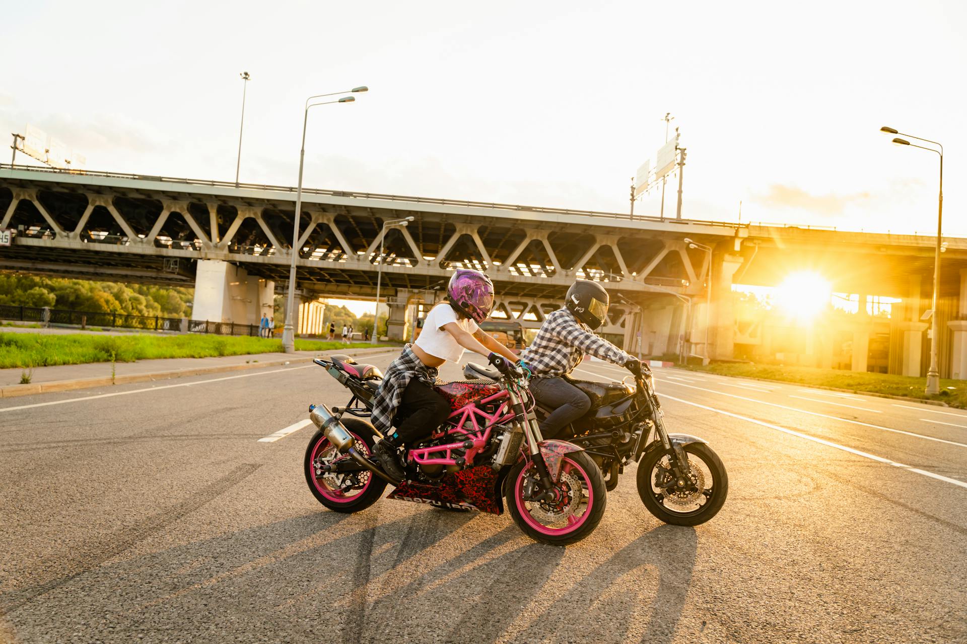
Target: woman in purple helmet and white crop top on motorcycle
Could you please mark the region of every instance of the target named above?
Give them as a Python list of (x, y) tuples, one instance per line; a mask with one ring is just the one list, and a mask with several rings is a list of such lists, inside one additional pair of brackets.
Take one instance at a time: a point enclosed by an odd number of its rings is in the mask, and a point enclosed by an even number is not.
[(447, 301), (430, 310), (417, 341), (390, 363), (370, 417), (385, 436), (376, 443), (373, 456), (390, 476), (406, 476), (399, 448), (432, 433), (450, 415), (450, 402), (433, 389), (437, 370), (445, 362), (459, 360), (464, 349), (488, 358), (499, 353), (516, 362), (511, 350), (478, 326), (492, 308), (490, 278), (479, 270), (457, 269), (447, 286)]

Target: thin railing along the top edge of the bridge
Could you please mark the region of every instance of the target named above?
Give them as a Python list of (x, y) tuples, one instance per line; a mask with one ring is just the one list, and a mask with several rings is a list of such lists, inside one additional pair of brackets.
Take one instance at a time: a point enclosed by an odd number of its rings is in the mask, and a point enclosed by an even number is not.
[[(293, 185), (274, 185), (271, 183), (235, 183), (220, 182), (206, 179), (184, 179), (174, 177), (158, 177), (155, 175), (134, 175), (124, 172), (94, 172), (87, 170), (59, 170), (57, 168), (39, 168), (34, 166), (12, 166), (10, 163), (0, 163), (0, 170), (29, 171), (44, 174), (102, 177), (106, 179), (134, 179), (147, 182), (185, 183), (188, 185), (206, 185), (211, 187), (244, 188), (248, 190), (268, 190), (272, 192), (296, 192)], [(519, 204), (500, 204), (485, 201), (466, 201), (461, 199), (438, 199), (434, 197), (413, 197), (406, 195), (381, 194), (378, 192), (355, 192), (353, 190), (325, 190), (322, 188), (303, 187), (303, 194), (315, 194), (328, 197), (349, 197), (352, 199), (373, 199), (378, 201), (408, 202), (411, 204), (430, 204), (434, 206), (461, 206), (466, 208), (487, 208), (492, 210), (520, 210), (528, 212), (542, 212), (546, 214), (579, 214), (589, 217), (608, 219), (627, 219), (630, 221), (655, 221), (697, 226), (719, 226), (723, 228), (747, 228), (748, 224), (729, 221), (708, 221), (704, 219), (672, 219), (655, 216), (632, 216), (625, 212), (605, 212), (603, 210), (571, 210), (567, 208), (544, 208), (541, 206), (521, 206)]]

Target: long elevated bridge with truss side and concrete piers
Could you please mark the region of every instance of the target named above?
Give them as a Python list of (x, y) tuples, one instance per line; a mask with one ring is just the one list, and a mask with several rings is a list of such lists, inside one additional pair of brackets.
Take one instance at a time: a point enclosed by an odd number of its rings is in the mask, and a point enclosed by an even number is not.
[[(251, 323), (285, 293), (295, 197), (291, 186), (0, 165), (0, 229), (15, 231), (12, 246), (0, 248), (0, 269), (190, 286), (196, 319)], [(414, 217), (410, 226), (384, 231), (385, 221), (404, 216)], [(436, 301), (454, 267), (466, 266), (493, 278), (497, 319), (537, 327), (573, 279), (592, 279), (614, 303), (601, 332), (627, 350), (677, 352), (683, 341), (702, 349), (708, 337), (715, 358), (745, 351), (775, 359), (764, 325), (737, 320), (732, 285), (775, 286), (811, 269), (864, 302), (900, 298), (886, 322), (884, 370), (925, 370), (933, 237), (321, 189), (304, 189), (299, 222), (303, 328), (320, 316), (312, 305), (320, 297), (373, 297), (378, 269), (389, 334), (402, 338), (414, 307)], [(689, 248), (686, 238), (713, 250)], [(967, 378), (967, 239), (945, 241), (941, 372)], [(860, 309), (847, 329), (811, 331), (787, 359), (857, 371), (878, 365), (870, 343), (882, 341), (884, 321)], [(846, 332), (854, 349), (843, 365), (836, 347)]]

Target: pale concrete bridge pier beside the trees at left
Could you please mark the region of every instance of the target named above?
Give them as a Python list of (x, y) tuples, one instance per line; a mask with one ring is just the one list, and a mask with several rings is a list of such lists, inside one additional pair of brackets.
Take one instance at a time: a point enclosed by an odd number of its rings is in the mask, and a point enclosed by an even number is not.
[(210, 322), (257, 324), (264, 313), (272, 318), (276, 283), (260, 279), (221, 260), (198, 260), (191, 317)]

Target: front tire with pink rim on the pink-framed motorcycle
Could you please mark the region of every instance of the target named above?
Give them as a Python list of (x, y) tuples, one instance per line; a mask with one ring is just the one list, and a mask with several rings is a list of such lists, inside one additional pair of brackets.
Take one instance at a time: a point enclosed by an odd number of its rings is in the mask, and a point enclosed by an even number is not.
[[(601, 469), (585, 452), (569, 452), (561, 459), (562, 477), (569, 473), (571, 480), (578, 480), (584, 489), (583, 495), (588, 504), (579, 518), (562, 527), (552, 527), (535, 518), (527, 508), (528, 501), (523, 498), (523, 481), (525, 474), (533, 474), (533, 462), (518, 461), (511, 468), (504, 482), (504, 498), (513, 522), (524, 534), (534, 541), (551, 546), (568, 546), (575, 544), (592, 532), (604, 517), (607, 505), (607, 491), (604, 489), (604, 477)], [(540, 504), (538, 504), (540, 505)], [(580, 505), (580, 502), (578, 503)]]

